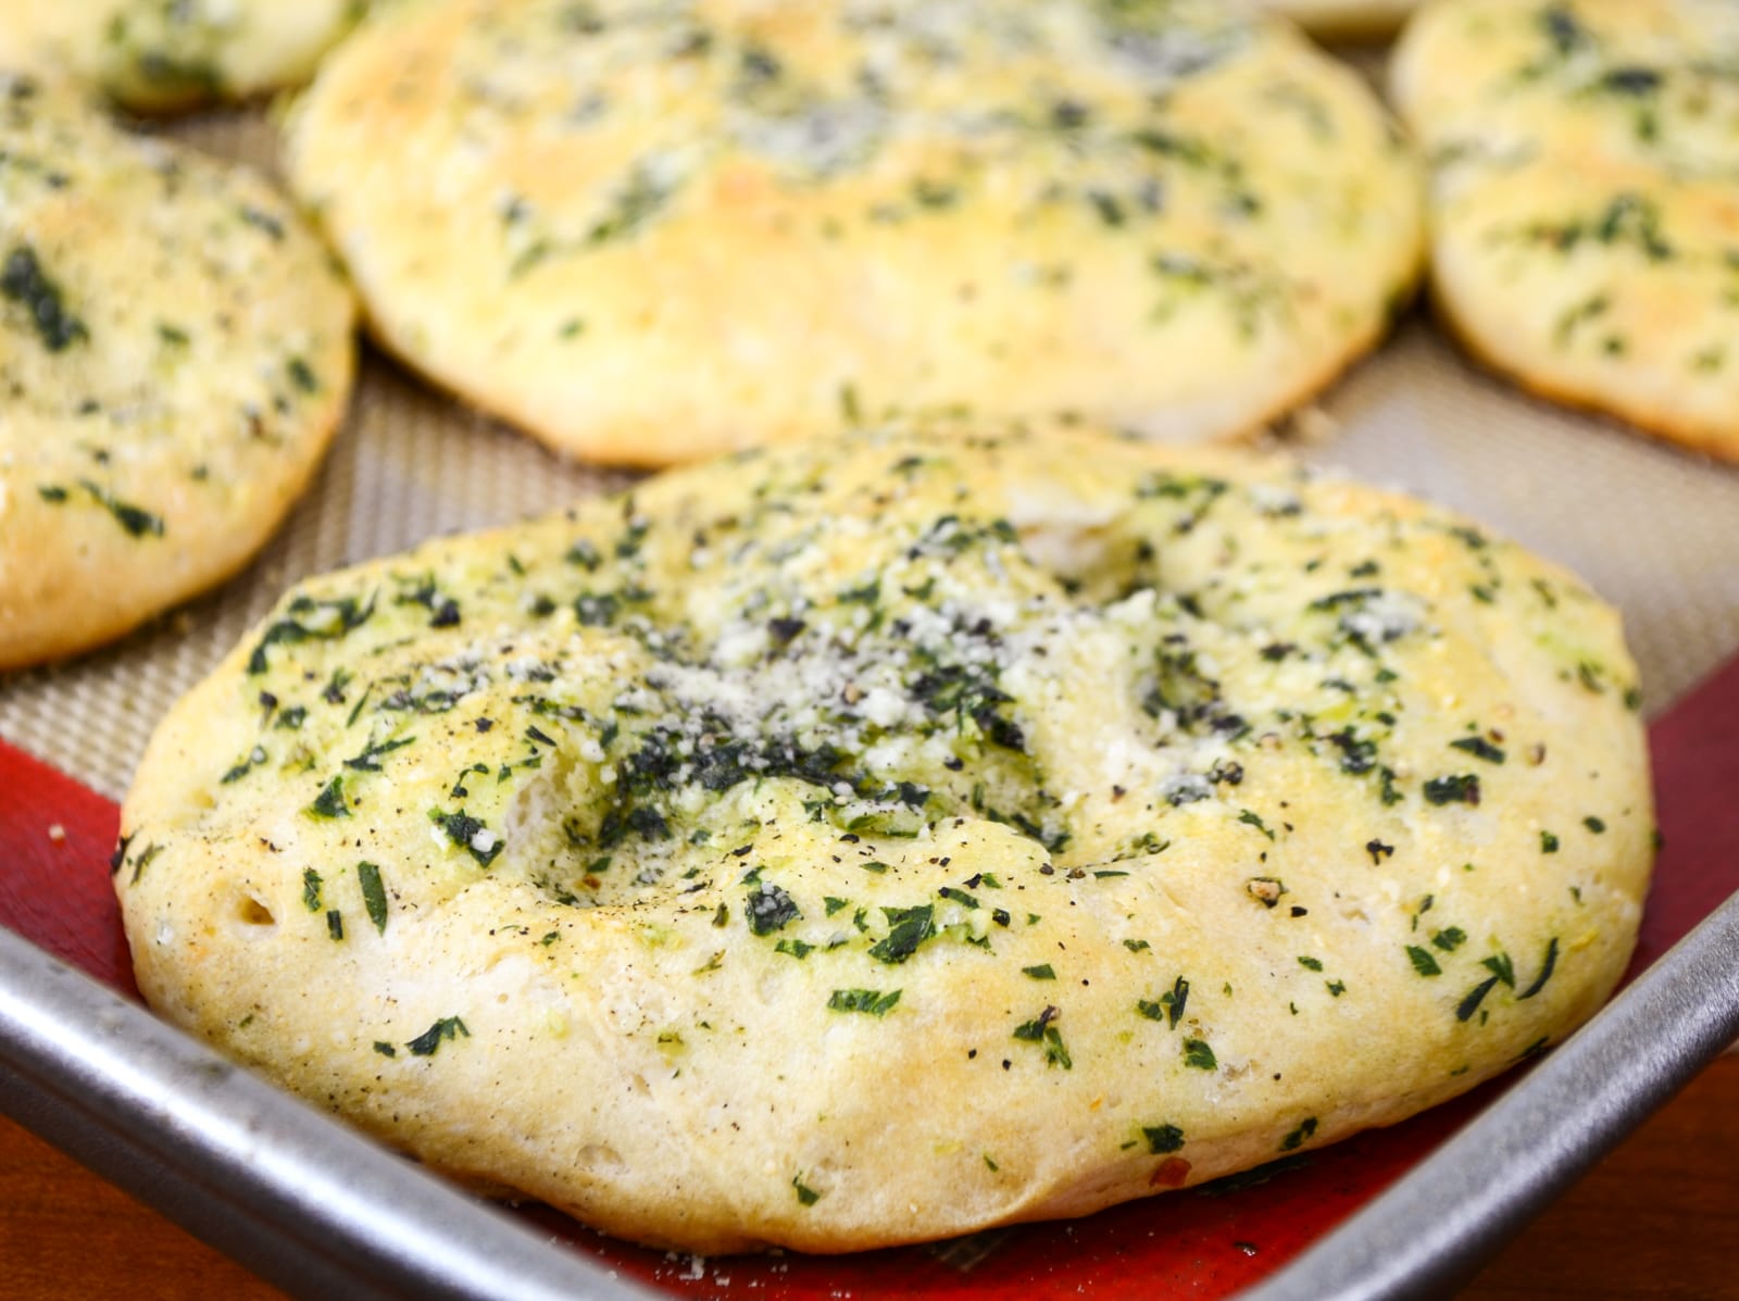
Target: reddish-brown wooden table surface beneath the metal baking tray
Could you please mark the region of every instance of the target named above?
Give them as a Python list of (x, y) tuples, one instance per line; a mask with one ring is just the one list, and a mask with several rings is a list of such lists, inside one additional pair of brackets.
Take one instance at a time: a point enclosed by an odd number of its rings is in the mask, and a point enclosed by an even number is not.
[[(280, 1294), (0, 1118), (0, 1298)], [(1739, 1301), (1739, 1056), (1725, 1056), (1462, 1294)]]

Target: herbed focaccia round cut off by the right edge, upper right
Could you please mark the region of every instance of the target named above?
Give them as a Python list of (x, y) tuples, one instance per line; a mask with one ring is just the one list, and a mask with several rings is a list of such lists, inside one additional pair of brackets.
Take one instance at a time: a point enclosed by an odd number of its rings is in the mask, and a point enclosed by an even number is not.
[(1544, 397), (1739, 461), (1739, 7), (1445, 0), (1393, 78), (1431, 153), (1431, 280)]

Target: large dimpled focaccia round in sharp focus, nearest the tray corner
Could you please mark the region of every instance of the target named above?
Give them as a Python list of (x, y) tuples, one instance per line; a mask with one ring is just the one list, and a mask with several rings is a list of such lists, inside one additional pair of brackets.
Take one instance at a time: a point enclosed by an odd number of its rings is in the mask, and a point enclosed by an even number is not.
[(435, 1167), (876, 1247), (1555, 1044), (1638, 922), (1633, 692), (1574, 577), (1398, 496), (854, 435), (292, 590), (117, 885), (162, 1014)]

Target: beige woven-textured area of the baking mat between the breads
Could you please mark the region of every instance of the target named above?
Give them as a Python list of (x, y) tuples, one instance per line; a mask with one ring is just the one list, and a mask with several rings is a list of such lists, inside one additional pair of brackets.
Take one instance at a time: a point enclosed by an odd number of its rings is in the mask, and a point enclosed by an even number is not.
[[(177, 134), (261, 158), (259, 115)], [(1456, 506), (1589, 579), (1626, 616), (1650, 711), (1739, 650), (1739, 470), (1532, 402), (1423, 318), (1297, 421), (1306, 459)], [(301, 574), (630, 482), (562, 463), (379, 357), (313, 492), (216, 593), (97, 654), (0, 677), (0, 736), (120, 797), (169, 704)]]

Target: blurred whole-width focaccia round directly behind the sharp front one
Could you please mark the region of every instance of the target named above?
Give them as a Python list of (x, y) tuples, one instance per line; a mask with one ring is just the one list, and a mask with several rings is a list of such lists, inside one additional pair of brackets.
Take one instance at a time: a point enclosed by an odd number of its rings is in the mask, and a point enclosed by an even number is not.
[(636, 464), (894, 410), (1240, 433), (1423, 252), (1358, 77), (1196, 0), (421, 7), (325, 66), (289, 172), (386, 346)]

